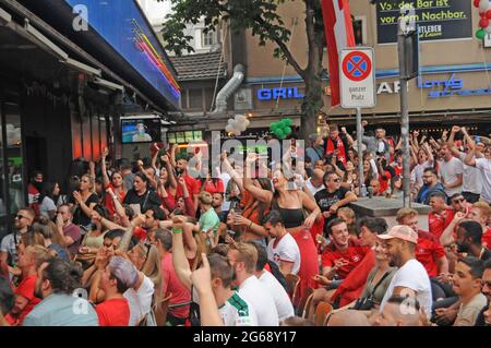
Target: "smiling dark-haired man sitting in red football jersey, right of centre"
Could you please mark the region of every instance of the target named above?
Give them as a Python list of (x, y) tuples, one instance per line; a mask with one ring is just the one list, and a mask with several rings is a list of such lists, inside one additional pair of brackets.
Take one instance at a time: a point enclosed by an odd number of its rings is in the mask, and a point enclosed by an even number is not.
[(359, 247), (349, 238), (348, 226), (339, 218), (335, 218), (327, 224), (326, 231), (331, 239), (331, 244), (322, 253), (322, 275), (314, 276), (314, 280), (324, 287), (320, 287), (313, 292), (312, 311), (320, 301), (331, 301), (335, 288), (339, 285), (333, 281), (345, 279), (348, 274), (363, 260), (370, 248)]

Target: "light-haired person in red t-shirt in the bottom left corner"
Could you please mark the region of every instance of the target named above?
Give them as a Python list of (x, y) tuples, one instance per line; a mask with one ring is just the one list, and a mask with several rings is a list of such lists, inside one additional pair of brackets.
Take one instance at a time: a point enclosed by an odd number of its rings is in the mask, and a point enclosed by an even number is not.
[(40, 245), (19, 249), (17, 266), (22, 272), (22, 280), (15, 288), (15, 304), (7, 317), (10, 325), (21, 326), (27, 314), (41, 301), (34, 295), (37, 278), (36, 265), (47, 257), (48, 251)]

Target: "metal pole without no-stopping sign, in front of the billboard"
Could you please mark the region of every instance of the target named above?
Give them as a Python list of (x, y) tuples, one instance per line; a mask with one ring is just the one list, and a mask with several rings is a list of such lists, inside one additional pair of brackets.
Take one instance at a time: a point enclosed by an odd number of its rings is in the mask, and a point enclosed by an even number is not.
[(411, 205), (410, 200), (410, 170), (409, 170), (409, 107), (408, 107), (408, 80), (406, 72), (405, 34), (399, 31), (397, 35), (397, 46), (399, 53), (399, 80), (400, 80), (400, 136), (403, 140), (403, 190), (404, 207)]

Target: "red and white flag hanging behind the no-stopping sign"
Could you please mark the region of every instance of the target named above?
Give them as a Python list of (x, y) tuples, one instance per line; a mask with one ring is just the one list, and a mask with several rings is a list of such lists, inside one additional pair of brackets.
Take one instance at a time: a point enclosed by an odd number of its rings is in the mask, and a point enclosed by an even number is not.
[(322, 0), (327, 53), (330, 58), (331, 105), (340, 103), (339, 96), (339, 51), (355, 47), (351, 15), (348, 0)]

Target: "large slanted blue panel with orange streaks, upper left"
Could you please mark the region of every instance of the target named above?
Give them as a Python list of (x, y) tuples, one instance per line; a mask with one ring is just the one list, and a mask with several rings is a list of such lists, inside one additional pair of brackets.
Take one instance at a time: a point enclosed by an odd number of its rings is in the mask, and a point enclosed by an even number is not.
[[(85, 5), (88, 24), (176, 108), (180, 92), (155, 60), (164, 51), (134, 0), (64, 0), (72, 8)], [(146, 41), (147, 39), (147, 41)], [(149, 48), (145, 52), (139, 43)], [(110, 67), (109, 67), (110, 68)], [(166, 70), (166, 68), (164, 68)]]

